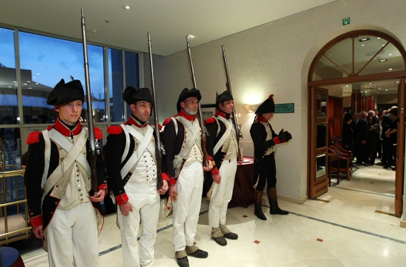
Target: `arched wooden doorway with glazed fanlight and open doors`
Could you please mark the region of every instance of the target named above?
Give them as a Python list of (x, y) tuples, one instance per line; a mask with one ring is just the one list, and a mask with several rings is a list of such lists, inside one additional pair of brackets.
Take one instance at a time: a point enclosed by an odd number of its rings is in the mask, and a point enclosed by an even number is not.
[[(329, 111), (329, 96), (350, 99), (349, 112), (369, 111), (376, 106), (374, 95), (396, 90), (400, 122), (405, 122), (406, 53), (393, 37), (376, 30), (356, 30), (326, 44), (308, 73), (308, 196), (315, 199), (328, 191), (328, 147), (339, 139), (331, 134), (342, 126), (343, 107)], [(388, 88), (373, 87), (374, 82)], [(392, 83), (392, 84), (391, 84)], [(349, 87), (349, 88), (348, 88)], [(374, 95), (368, 95), (367, 91)], [(334, 95), (332, 97), (331, 95)], [(331, 100), (331, 99), (330, 99)], [(348, 102), (348, 101), (347, 101)], [(347, 107), (348, 109), (348, 107)], [(335, 118), (331, 119), (331, 114)], [(329, 118), (330, 117), (330, 118)], [(402, 124), (403, 125), (403, 124)], [(341, 128), (339, 128), (341, 129)], [(337, 130), (337, 129), (336, 129)], [(341, 131), (335, 131), (341, 135)], [(402, 214), (405, 158), (405, 127), (398, 127), (395, 214)]]

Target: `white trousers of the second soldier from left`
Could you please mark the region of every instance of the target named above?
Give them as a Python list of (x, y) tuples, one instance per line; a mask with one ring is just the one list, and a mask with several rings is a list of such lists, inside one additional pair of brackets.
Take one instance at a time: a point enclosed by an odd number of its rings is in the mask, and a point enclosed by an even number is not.
[[(130, 180), (124, 186), (132, 212), (125, 217), (117, 212), (123, 243), (124, 266), (152, 266), (154, 264), (154, 244), (157, 239), (159, 219), (159, 194), (157, 180), (147, 183), (135, 183)], [(141, 255), (136, 241), (141, 218)], [(141, 259), (140, 259), (141, 258)]]

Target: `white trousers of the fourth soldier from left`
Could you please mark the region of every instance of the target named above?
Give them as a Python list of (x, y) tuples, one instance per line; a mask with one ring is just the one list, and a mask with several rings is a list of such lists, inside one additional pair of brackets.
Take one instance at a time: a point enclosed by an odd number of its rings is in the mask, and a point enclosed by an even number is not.
[(237, 172), (237, 157), (224, 160), (220, 166), (220, 183), (214, 183), (209, 204), (209, 225), (218, 228), (226, 224), (226, 214), (229, 202), (233, 196), (234, 180)]

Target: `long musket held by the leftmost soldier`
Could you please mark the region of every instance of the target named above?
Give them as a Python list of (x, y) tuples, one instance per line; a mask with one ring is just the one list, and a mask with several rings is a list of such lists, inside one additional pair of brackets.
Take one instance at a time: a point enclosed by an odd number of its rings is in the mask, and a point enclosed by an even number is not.
[(91, 188), (96, 194), (98, 192), (98, 179), (96, 172), (97, 156), (100, 154), (100, 145), (94, 136), (94, 122), (93, 122), (93, 109), (91, 108), (91, 92), (90, 92), (90, 79), (89, 79), (89, 61), (87, 59), (87, 42), (86, 42), (86, 24), (85, 16), (82, 11), (82, 44), (83, 44), (83, 59), (85, 62), (85, 84), (86, 84), (86, 102), (87, 102), (87, 126), (89, 133), (89, 155), (90, 155), (90, 169), (91, 169)]

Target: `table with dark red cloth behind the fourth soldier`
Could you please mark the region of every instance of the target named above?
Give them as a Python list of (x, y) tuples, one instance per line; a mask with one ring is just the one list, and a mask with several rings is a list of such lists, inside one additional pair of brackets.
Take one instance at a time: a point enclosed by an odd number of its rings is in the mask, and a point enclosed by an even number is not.
[(229, 208), (254, 204), (254, 158), (244, 156), (244, 163), (237, 165), (236, 180), (234, 181), (233, 197)]

